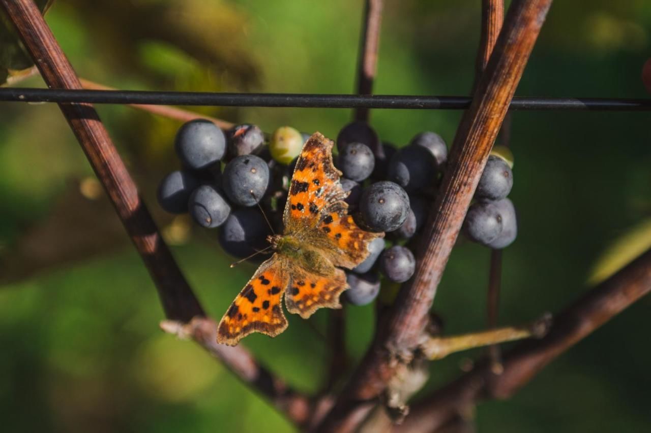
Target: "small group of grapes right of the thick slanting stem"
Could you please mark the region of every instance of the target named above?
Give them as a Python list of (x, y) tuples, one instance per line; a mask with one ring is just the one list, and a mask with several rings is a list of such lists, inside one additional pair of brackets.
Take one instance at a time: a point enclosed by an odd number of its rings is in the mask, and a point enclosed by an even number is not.
[(465, 235), (493, 249), (505, 248), (518, 234), (516, 209), (506, 198), (513, 187), (512, 161), (508, 150), (495, 147), (479, 179), (475, 202), (465, 215)]

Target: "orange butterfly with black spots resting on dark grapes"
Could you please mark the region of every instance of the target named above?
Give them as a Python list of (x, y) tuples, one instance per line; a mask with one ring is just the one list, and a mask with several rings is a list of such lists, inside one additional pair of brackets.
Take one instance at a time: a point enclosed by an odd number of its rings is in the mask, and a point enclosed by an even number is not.
[(275, 250), (230, 304), (217, 343), (234, 346), (252, 332), (275, 337), (287, 328), (287, 311), (307, 319), (318, 308), (341, 308), (346, 274), (368, 256), (368, 243), (384, 233), (362, 230), (348, 215), (349, 192), (339, 183), (333, 142), (314, 133), (296, 161), (283, 213), (283, 235), (268, 237)]

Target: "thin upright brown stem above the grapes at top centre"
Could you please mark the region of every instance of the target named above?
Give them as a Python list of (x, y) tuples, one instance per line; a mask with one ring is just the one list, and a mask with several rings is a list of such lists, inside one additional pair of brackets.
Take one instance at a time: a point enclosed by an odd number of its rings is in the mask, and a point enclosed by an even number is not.
[[(378, 66), (383, 0), (366, 0), (363, 14), (361, 46), (357, 64), (357, 94), (370, 95)], [(368, 120), (368, 109), (355, 110), (355, 120)]]

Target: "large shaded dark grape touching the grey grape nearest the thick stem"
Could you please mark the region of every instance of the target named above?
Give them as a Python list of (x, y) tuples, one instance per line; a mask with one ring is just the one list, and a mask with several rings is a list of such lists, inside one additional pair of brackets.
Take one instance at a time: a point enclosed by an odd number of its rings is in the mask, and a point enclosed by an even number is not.
[(422, 146), (401, 148), (389, 161), (387, 179), (409, 192), (434, 185), (436, 178), (434, 156)]

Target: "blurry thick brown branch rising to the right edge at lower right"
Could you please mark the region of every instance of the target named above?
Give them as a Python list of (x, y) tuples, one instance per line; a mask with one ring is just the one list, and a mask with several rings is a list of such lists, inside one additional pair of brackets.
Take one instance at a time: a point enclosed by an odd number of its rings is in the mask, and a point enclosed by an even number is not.
[(507, 352), (501, 375), (492, 374), (487, 362), (478, 363), (473, 371), (414, 404), (396, 430), (432, 432), (477, 400), (510, 397), (549, 362), (650, 291), (648, 250), (559, 313), (546, 337), (523, 341)]

